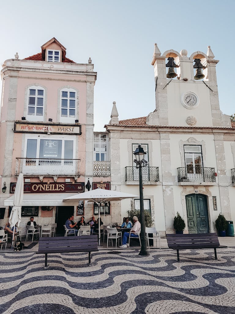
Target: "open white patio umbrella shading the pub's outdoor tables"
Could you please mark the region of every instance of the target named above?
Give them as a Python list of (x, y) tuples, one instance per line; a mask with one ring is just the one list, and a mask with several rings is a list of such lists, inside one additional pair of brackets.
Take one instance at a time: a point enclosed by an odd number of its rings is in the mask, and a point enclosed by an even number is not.
[[(63, 202), (69, 203), (69, 202), (80, 201), (80, 200), (95, 202), (98, 204), (98, 214), (100, 218), (101, 203), (121, 201), (126, 198), (136, 198), (136, 197), (139, 198), (138, 195), (97, 188), (95, 190), (87, 191), (84, 193), (78, 193), (76, 195), (72, 195), (67, 198), (64, 198)], [(100, 219), (99, 219), (99, 245), (100, 245)]]

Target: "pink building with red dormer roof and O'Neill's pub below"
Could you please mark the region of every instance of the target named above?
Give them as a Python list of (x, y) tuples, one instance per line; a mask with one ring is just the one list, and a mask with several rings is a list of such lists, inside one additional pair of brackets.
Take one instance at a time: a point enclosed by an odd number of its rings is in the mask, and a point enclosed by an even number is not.
[[(65, 207), (62, 199), (84, 192), (93, 176), (97, 73), (91, 58), (87, 64), (68, 59), (66, 48), (52, 38), (33, 56), (6, 60), (1, 77), (0, 182), (6, 189), (1, 188), (0, 225), (8, 220), (22, 172), (21, 225), (34, 216), (39, 225), (57, 223), (63, 231), (67, 216), (81, 214), (83, 206)], [(91, 219), (93, 211), (86, 214)]]

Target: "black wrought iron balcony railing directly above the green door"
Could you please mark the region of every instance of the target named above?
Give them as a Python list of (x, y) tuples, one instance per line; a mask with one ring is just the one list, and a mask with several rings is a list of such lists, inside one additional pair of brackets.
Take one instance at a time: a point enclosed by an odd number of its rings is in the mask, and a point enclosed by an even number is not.
[(178, 170), (178, 182), (215, 182), (215, 168), (181, 167)]

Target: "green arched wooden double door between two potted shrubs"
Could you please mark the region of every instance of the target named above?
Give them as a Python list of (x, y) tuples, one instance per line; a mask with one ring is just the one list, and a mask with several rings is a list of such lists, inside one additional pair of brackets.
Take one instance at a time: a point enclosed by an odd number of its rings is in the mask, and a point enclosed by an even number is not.
[(209, 220), (206, 195), (189, 194), (185, 198), (189, 233), (208, 233)]

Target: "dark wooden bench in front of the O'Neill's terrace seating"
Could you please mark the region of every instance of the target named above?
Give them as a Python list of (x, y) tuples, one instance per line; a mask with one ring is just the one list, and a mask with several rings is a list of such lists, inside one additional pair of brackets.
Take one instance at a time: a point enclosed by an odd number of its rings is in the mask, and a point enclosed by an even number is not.
[(88, 265), (91, 264), (91, 252), (97, 252), (97, 235), (95, 236), (69, 236), (69, 237), (41, 237), (37, 254), (45, 254), (45, 267), (47, 267), (47, 254), (88, 252)]

